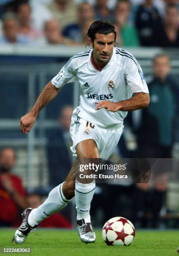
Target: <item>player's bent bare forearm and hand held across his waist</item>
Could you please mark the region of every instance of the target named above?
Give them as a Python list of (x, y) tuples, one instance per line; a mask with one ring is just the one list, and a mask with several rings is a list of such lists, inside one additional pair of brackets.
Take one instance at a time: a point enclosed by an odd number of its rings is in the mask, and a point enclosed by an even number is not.
[(122, 100), (119, 102), (110, 102), (108, 100), (104, 100), (97, 104), (96, 110), (100, 108), (106, 108), (108, 111), (116, 112), (116, 111), (132, 111), (141, 108), (147, 108), (149, 106), (150, 97), (149, 93), (145, 92), (137, 92), (134, 93), (134, 96), (128, 100)]

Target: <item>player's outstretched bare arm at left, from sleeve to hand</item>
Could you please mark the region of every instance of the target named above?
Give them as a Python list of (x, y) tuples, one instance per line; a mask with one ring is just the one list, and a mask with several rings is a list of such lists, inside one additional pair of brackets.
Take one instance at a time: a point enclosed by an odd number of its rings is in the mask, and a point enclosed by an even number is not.
[(40, 110), (57, 96), (61, 88), (56, 88), (51, 81), (45, 86), (32, 109), (20, 119), (22, 133), (30, 132)]

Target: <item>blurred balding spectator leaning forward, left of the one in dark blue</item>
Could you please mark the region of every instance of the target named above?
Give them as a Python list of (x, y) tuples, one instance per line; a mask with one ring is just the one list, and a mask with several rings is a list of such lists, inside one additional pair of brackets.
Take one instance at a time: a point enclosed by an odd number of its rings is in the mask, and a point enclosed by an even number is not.
[(44, 26), (45, 38), (40, 39), (39, 44), (76, 44), (75, 41), (62, 35), (57, 20), (49, 20)]

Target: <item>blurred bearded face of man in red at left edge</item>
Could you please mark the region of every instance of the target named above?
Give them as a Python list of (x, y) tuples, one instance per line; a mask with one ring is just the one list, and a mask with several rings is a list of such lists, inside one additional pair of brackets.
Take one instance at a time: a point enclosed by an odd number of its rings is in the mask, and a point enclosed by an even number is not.
[(1, 170), (4, 172), (10, 171), (15, 164), (15, 152), (11, 148), (5, 148), (0, 156)]

